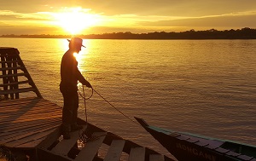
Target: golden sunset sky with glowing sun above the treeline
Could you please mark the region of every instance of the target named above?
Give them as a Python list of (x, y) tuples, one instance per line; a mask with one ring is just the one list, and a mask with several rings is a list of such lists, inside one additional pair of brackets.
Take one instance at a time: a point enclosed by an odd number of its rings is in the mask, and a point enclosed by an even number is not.
[(255, 0), (0, 0), (0, 35), (256, 28)]

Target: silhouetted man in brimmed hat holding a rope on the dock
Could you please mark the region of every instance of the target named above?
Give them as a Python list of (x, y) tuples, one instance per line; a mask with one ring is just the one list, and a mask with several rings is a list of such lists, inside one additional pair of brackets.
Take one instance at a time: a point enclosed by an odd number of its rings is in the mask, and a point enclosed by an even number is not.
[[(62, 109), (61, 131), (64, 139), (70, 139), (70, 131), (79, 130), (83, 127), (77, 124), (79, 95), (78, 81), (88, 88), (91, 85), (85, 80), (81, 72), (79, 72), (78, 61), (73, 56), (74, 53), (79, 54), (83, 40), (79, 37), (72, 37), (69, 41), (69, 49), (63, 55), (61, 60), (61, 84), (60, 90), (64, 99)], [(85, 48), (85, 47), (84, 47)]]

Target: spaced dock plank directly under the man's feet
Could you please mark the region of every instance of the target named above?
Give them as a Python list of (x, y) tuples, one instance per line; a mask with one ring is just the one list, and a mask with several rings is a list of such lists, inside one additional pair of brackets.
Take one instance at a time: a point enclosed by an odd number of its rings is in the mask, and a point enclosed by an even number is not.
[[(83, 127), (85, 129), (85, 126)], [(67, 156), (67, 153), (71, 150), (71, 148), (77, 143), (79, 140), (79, 130), (73, 131), (70, 133), (71, 138), (68, 140), (62, 140), (59, 142), (52, 150), (51, 152), (61, 155), (61, 156)]]

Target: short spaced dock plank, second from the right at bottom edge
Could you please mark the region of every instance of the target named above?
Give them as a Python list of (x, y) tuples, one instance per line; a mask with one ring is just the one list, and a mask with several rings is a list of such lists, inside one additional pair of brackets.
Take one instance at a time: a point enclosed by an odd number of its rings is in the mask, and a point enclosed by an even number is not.
[(133, 147), (128, 158), (128, 161), (144, 161), (146, 155), (145, 147)]

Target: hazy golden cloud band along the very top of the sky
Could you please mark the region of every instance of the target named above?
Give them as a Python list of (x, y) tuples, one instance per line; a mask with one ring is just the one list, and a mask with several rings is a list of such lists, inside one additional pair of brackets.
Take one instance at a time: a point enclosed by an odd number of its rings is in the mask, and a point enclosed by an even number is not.
[(95, 14), (137, 14), (162, 16), (202, 16), (226, 14), (255, 9), (256, 1), (247, 0), (0, 0), (0, 9), (13, 10), (20, 13), (53, 11), (60, 8), (82, 7), (91, 9)]

